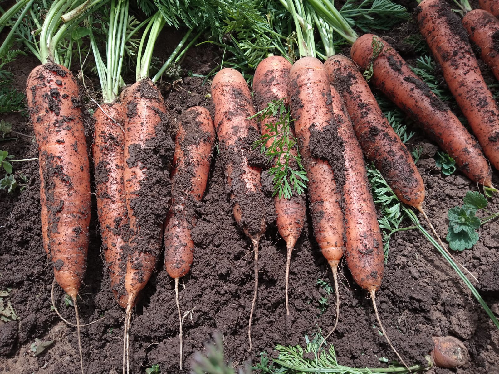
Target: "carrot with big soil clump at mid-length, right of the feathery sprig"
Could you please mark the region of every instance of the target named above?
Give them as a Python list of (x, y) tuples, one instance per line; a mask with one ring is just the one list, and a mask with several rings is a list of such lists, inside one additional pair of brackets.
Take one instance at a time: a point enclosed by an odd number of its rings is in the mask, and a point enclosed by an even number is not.
[(302, 57), (296, 61), (289, 72), (287, 94), (291, 115), (296, 119), (294, 129), (301, 160), (309, 180), (308, 198), (315, 239), (334, 277), (334, 331), (340, 308), (337, 266), (344, 251), (344, 159), (324, 65), (313, 57)]

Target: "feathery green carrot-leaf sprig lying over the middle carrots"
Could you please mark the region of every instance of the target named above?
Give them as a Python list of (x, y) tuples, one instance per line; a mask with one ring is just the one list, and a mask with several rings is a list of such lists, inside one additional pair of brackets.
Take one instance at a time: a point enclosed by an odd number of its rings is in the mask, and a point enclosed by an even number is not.
[[(265, 123), (267, 131), (253, 143), (253, 149), (259, 148), (269, 163), (275, 162), (274, 166), (268, 170), (274, 185), (272, 195), (278, 194), (279, 198), (285, 199), (290, 198), (293, 192), (301, 195), (306, 188), (305, 182), (308, 182), (308, 178), (301, 164), (299, 152), (297, 156), (291, 153), (291, 149), (297, 146), (290, 127), (294, 120), (284, 106), (284, 99), (268, 103), (266, 108), (249, 119), (253, 118), (258, 122), (275, 119), (275, 121)], [(266, 146), (268, 143), (270, 143), (269, 147)]]

